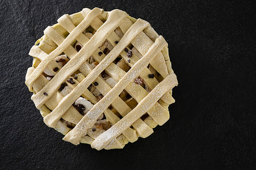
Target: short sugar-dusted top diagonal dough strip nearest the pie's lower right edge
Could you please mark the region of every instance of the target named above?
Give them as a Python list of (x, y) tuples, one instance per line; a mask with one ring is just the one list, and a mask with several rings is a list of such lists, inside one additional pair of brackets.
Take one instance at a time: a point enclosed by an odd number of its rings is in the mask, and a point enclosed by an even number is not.
[[(119, 122), (117, 122), (110, 129), (105, 131), (99, 137), (97, 137), (91, 147), (97, 150), (103, 149), (110, 141), (115, 137), (129, 128), (136, 119), (141, 117), (149, 108), (151, 108), (161, 96), (177, 86), (177, 78), (175, 74), (170, 74), (162, 82), (160, 82), (147, 96), (144, 98), (130, 113), (123, 117)], [(73, 130), (72, 130), (73, 131)], [(71, 133), (70, 131), (69, 133)], [(69, 135), (69, 133), (67, 135)]]

